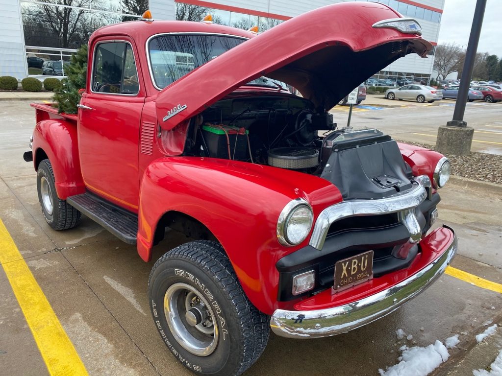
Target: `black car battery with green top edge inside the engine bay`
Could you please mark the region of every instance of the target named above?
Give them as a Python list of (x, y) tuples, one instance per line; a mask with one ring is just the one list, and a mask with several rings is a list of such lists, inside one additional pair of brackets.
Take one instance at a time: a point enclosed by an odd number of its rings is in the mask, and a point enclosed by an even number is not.
[(215, 158), (247, 160), (247, 133), (244, 128), (224, 124), (209, 124), (202, 126), (202, 134), (208, 148), (209, 156)]

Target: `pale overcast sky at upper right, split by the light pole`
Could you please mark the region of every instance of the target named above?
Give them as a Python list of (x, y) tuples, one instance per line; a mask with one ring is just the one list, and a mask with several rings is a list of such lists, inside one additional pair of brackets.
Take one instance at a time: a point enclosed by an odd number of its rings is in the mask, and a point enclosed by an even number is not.
[[(456, 43), (460, 46), (469, 42), (472, 18), (476, 0), (445, 0), (441, 16), (439, 44)], [(483, 27), (479, 38), (478, 52), (502, 57), (502, 0), (487, 0)]]

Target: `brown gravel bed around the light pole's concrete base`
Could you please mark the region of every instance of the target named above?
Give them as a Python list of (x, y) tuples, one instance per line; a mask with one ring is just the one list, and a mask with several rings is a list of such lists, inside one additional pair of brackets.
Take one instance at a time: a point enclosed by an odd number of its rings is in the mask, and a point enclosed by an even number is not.
[[(434, 149), (434, 145), (431, 144), (408, 141), (399, 142)], [(472, 151), (469, 155), (445, 154), (445, 156), (450, 159), (452, 175), (502, 184), (502, 155)]]

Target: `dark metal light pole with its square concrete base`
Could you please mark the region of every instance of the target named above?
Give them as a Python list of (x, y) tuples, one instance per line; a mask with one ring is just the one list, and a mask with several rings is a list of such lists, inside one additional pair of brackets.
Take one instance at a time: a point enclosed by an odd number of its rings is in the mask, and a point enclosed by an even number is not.
[(455, 102), (455, 110), (453, 111), (453, 119), (448, 121), (446, 126), (440, 126), (438, 130), (436, 150), (442, 153), (466, 155), (470, 152), (474, 129), (467, 127), (467, 123), (463, 118), (485, 8), (486, 0), (477, 0), (469, 43), (467, 44), (467, 51), (465, 53), (462, 77), (458, 88), (457, 101)]

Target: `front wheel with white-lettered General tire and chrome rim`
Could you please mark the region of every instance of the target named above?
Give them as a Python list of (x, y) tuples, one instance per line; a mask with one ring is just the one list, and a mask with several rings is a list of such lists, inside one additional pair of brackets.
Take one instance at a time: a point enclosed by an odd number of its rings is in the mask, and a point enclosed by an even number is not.
[(148, 293), (164, 343), (192, 371), (240, 374), (267, 345), (269, 318), (249, 302), (218, 243), (190, 242), (164, 254)]

